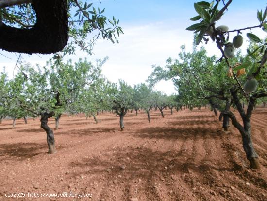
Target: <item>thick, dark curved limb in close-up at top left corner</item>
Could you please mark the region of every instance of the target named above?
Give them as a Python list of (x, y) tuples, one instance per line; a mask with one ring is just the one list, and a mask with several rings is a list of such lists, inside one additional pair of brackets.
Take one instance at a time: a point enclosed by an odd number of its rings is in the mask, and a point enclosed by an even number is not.
[(1, 24), (0, 48), (8, 52), (51, 54), (68, 41), (67, 0), (32, 0), (36, 13), (33, 28)]

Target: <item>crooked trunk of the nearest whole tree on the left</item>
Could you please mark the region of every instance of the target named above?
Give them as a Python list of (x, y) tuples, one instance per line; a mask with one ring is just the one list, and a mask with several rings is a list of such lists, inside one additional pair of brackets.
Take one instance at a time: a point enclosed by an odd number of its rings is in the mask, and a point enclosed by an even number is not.
[(47, 113), (47, 112), (41, 114), (41, 128), (43, 128), (47, 134), (47, 144), (48, 144), (49, 154), (53, 154), (56, 152), (54, 132), (47, 125), (48, 118), (52, 117), (53, 115), (54, 115), (53, 113)]

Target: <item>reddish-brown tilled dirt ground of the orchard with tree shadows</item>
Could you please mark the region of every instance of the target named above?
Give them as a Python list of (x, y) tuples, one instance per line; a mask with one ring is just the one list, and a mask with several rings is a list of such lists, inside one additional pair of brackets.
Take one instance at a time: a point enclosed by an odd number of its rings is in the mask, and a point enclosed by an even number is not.
[(99, 115), (99, 124), (64, 116), (53, 155), (39, 119), (17, 120), (16, 129), (4, 120), (0, 200), (267, 201), (267, 108), (252, 115), (260, 171), (249, 168), (239, 132), (222, 131), (210, 110), (164, 112), (151, 112), (150, 124), (145, 113), (128, 113), (123, 132), (114, 114)]

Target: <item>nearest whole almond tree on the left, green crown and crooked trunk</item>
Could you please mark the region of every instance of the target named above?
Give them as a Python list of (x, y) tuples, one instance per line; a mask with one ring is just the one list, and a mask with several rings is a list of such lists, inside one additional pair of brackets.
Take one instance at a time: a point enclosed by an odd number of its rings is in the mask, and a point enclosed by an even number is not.
[[(93, 82), (101, 66), (94, 67), (87, 60), (66, 64), (59, 61), (55, 65), (47, 62), (44, 67), (21, 67), (26, 81), (26, 92), (21, 99), (21, 107), (41, 116), (41, 128), (47, 133), (48, 153), (55, 153), (53, 130), (48, 126), (48, 119), (59, 116), (76, 103), (76, 98), (85, 85)], [(26, 74), (27, 73), (27, 74)]]

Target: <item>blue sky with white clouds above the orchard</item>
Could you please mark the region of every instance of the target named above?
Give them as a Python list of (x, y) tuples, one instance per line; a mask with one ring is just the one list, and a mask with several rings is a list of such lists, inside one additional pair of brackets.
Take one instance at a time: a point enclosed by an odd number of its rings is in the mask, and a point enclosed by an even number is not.
[[(85, 2), (85, 1), (84, 1)], [(193, 32), (185, 30), (192, 25), (189, 19), (196, 16), (194, 3), (196, 0), (91, 0), (94, 7), (105, 8), (108, 18), (115, 16), (119, 19), (124, 35), (118, 37), (119, 44), (110, 41), (98, 40), (94, 46), (94, 55), (86, 55), (77, 51), (76, 55), (68, 56), (65, 60), (74, 62), (79, 58), (87, 57), (87, 60), (95, 62), (97, 58), (109, 57), (102, 67), (102, 74), (112, 82), (118, 79), (125, 80), (134, 86), (145, 82), (152, 73), (152, 65), (165, 66), (167, 58), (177, 58), (181, 45), (186, 45), (190, 51), (193, 44)], [(257, 9), (265, 9), (266, 0), (233, 0), (228, 11), (219, 20), (216, 26), (227, 25), (230, 30), (258, 25)], [(242, 32), (244, 40), (246, 33)], [(249, 31), (250, 32), (250, 31)], [(253, 29), (252, 33), (260, 38), (266, 37), (266, 32), (261, 29)], [(230, 40), (236, 34), (230, 35)], [(241, 47), (246, 53), (248, 42)], [(220, 56), (220, 52), (214, 42), (203, 45), (209, 55)], [(200, 45), (200, 46), (201, 46)], [(14, 70), (17, 56), (15, 53), (0, 51), (0, 71), (5, 66), (9, 77), (16, 74)], [(9, 58), (6, 58), (9, 57)], [(22, 55), (27, 63), (35, 65), (45, 64), (52, 55)], [(171, 81), (160, 81), (155, 90), (167, 94), (177, 93)]]

